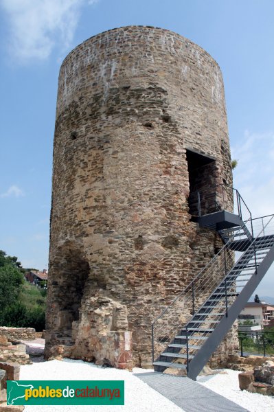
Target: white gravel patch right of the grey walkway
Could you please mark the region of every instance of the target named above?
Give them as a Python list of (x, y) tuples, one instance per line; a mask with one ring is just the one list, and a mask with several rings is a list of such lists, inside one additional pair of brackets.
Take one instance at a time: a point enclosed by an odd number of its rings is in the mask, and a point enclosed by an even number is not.
[(272, 396), (241, 391), (238, 383), (240, 371), (232, 371), (231, 369), (222, 369), (222, 371), (227, 372), (227, 374), (198, 376), (197, 382), (250, 412), (274, 412), (274, 398)]

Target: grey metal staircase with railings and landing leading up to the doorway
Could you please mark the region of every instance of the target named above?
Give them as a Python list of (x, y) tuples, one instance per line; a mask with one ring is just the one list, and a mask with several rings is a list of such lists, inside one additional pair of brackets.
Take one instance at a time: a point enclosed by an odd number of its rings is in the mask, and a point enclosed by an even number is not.
[[(238, 191), (221, 186), (227, 203), (223, 193), (224, 201), (216, 201), (216, 192), (213, 203), (198, 193), (197, 221), (218, 231), (225, 244), (152, 323), (156, 371), (186, 369), (196, 380), (274, 261), (274, 215), (253, 219)], [(234, 214), (225, 210), (233, 194)]]

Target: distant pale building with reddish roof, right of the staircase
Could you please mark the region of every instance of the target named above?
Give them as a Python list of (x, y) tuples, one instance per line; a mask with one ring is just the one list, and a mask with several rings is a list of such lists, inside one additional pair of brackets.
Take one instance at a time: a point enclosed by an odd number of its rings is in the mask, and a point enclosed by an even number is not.
[(274, 321), (274, 306), (266, 304), (265, 301), (248, 302), (238, 316), (238, 321), (252, 321), (254, 325), (260, 325), (262, 328), (268, 326)]

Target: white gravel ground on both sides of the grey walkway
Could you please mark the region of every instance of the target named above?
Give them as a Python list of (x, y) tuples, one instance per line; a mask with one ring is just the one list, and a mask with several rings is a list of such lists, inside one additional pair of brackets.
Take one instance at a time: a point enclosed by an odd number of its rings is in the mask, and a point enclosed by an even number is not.
[[(134, 368), (135, 373), (148, 371)], [(199, 376), (198, 382), (225, 398), (239, 404), (250, 412), (273, 412), (274, 398), (240, 391), (239, 371), (225, 369), (227, 374)], [(97, 367), (82, 361), (49, 361), (21, 366), (21, 380), (124, 380), (124, 406), (27, 406), (25, 412), (182, 412), (174, 403), (161, 396), (129, 371)]]

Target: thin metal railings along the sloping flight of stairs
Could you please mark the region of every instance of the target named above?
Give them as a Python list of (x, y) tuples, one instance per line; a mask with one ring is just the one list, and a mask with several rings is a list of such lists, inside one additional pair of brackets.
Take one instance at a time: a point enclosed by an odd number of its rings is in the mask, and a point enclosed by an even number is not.
[[(254, 221), (255, 233), (258, 234), (253, 241), (250, 241), (248, 249), (242, 242), (242, 248), (240, 247), (235, 254), (229, 249), (234, 240), (229, 240), (152, 323), (153, 362), (170, 340), (176, 334), (180, 334), (181, 330), (185, 330), (188, 365), (190, 354), (193, 355), (197, 351), (194, 346), (201, 343), (201, 334), (203, 339), (206, 339), (210, 333), (201, 330), (200, 336), (197, 336), (196, 332), (191, 330), (195, 328), (195, 323), (201, 325), (203, 321), (208, 329), (212, 329), (223, 316), (227, 315), (229, 306), (233, 304), (238, 293), (255, 273), (257, 266), (273, 244), (273, 236), (269, 236), (269, 240), (264, 236), (267, 237), (266, 233), (271, 235), (274, 233), (274, 215), (264, 216), (263, 219), (257, 218)], [(253, 222), (249, 221), (249, 225), (253, 226)], [(243, 228), (240, 227), (238, 232), (242, 230)], [(210, 302), (210, 299), (215, 303), (218, 301), (218, 310), (214, 303), (212, 307), (204, 306), (205, 302), (207, 304)], [(187, 327), (190, 323), (194, 324), (194, 328)]]

